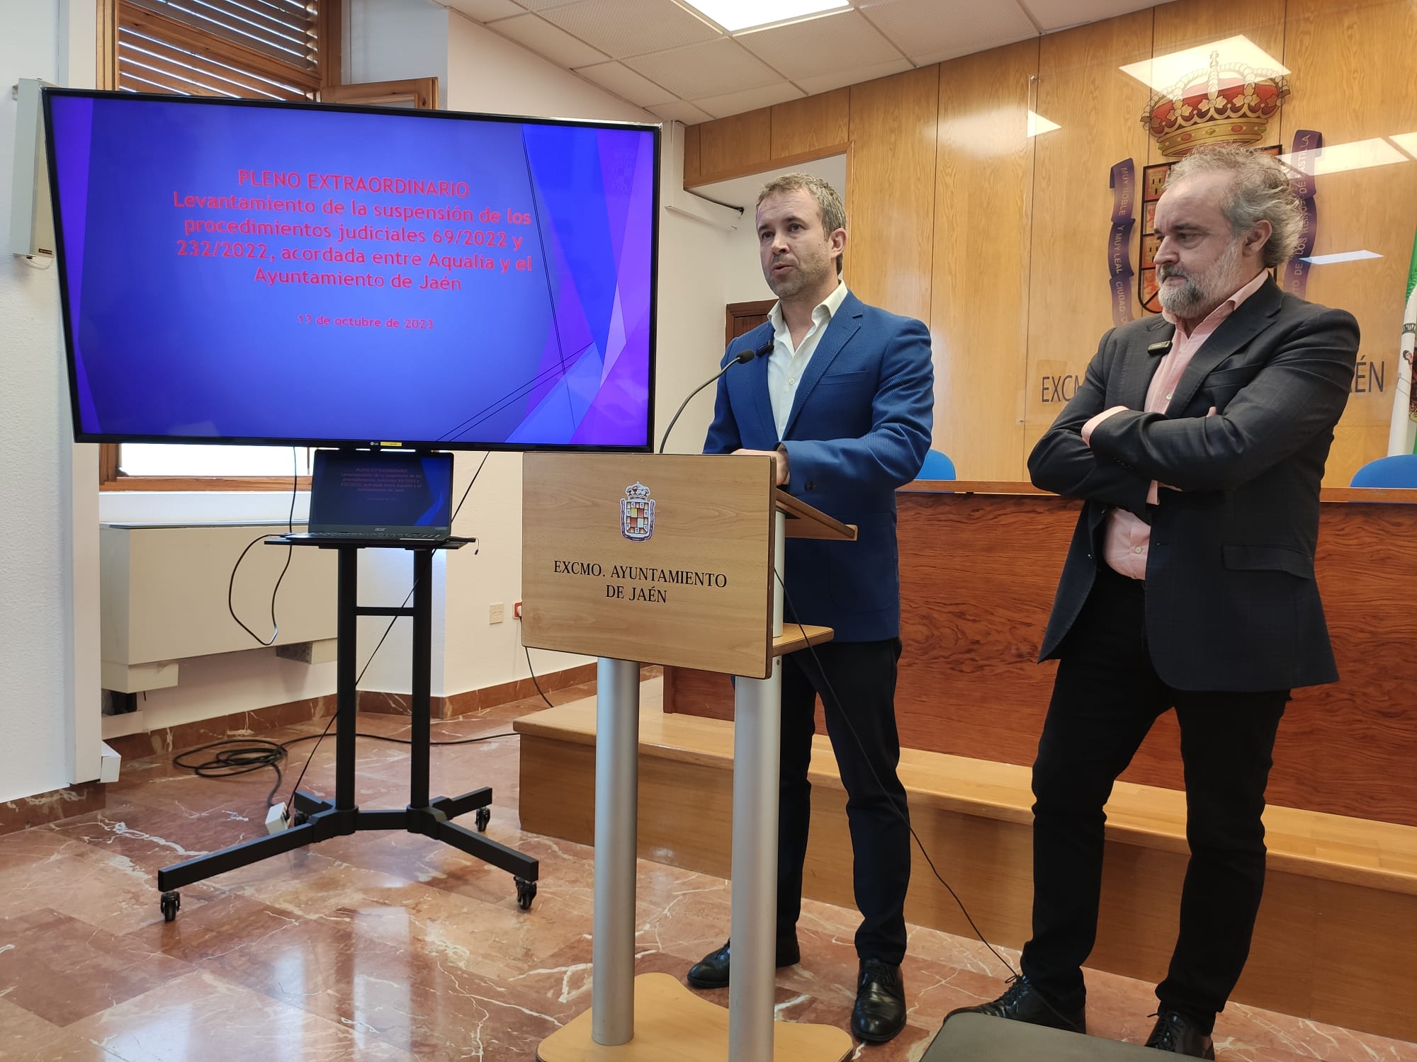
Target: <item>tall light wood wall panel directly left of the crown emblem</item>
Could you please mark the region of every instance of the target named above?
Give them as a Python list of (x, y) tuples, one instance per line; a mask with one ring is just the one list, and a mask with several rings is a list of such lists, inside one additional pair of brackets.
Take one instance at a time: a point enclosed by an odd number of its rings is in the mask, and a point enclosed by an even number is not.
[[(1151, 57), (1151, 10), (1049, 34), (1040, 41), (1033, 109), (1061, 129), (1033, 137), (1033, 238), (1023, 455), (1073, 396), (1102, 333), (1112, 327), (1110, 249), (1115, 163), (1132, 160), (1125, 252), (1141, 268), (1139, 181), (1151, 136), (1141, 123), (1149, 91), (1119, 67)], [(1127, 310), (1142, 316), (1135, 275)], [(1027, 477), (1020, 467), (1019, 476)]]

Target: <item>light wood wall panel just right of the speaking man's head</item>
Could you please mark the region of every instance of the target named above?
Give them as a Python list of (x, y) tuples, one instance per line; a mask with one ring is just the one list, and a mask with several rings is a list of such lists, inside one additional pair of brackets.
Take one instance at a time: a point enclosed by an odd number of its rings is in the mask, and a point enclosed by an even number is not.
[(850, 88), (846, 283), (863, 300), (922, 321), (930, 320), (938, 92), (938, 67)]

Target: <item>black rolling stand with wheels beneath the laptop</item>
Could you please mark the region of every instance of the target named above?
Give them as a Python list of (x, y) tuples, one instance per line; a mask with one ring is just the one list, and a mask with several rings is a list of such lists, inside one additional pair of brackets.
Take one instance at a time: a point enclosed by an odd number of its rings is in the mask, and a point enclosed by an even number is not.
[[(269, 545), (289, 545), (283, 539), (269, 539)], [(538, 864), (504, 844), (487, 840), (480, 834), (492, 817), (492, 789), (475, 789), (458, 797), (428, 799), (428, 746), (429, 746), (429, 670), (432, 667), (432, 556), (435, 549), (458, 549), (463, 539), (448, 539), (429, 545), (407, 542), (378, 544), (385, 548), (410, 549), (414, 554), (414, 607), (360, 607), (359, 605), (359, 551), (376, 544), (327, 545), (323, 542), (296, 542), (296, 545), (319, 545), (339, 551), (339, 661), (336, 681), (336, 732), (334, 732), (334, 800), (322, 800), (310, 793), (295, 794), (293, 824), (278, 834), (256, 837), (234, 844), (230, 848), (198, 855), (186, 862), (173, 864), (157, 871), (157, 888), (162, 889), (163, 918), (171, 922), (177, 918), (181, 898), (177, 893), (183, 885), (205, 881), (217, 874), (225, 874), (252, 862), (300, 848), (307, 844), (344, 837), (361, 830), (407, 830), (411, 834), (425, 834), (453, 848), (475, 855), (479, 860), (512, 874), (516, 878), (517, 905), (527, 910), (536, 899)], [(408, 807), (402, 810), (364, 811), (354, 801), (354, 644), (359, 616), (411, 616), (414, 620), (412, 661), (412, 748), (408, 769)], [(458, 816), (476, 810), (479, 833), (451, 821)]]

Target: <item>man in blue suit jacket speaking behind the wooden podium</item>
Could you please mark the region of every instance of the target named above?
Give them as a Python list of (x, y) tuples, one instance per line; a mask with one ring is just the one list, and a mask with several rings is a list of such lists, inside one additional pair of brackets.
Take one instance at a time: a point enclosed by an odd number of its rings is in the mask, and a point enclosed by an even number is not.
[[(910, 882), (905, 789), (896, 773), (896, 489), (915, 477), (930, 449), (930, 333), (846, 290), (846, 212), (826, 181), (774, 180), (758, 197), (757, 225), (762, 273), (778, 304), (765, 324), (730, 344), (723, 364), (744, 350), (772, 350), (720, 379), (704, 453), (771, 453), (779, 486), (859, 528), (854, 542), (786, 544), (786, 620), (836, 633), (782, 661), (777, 961), (799, 959), (808, 766), (820, 694), (847, 794), (862, 912), (852, 1031), (884, 1042), (905, 1025), (900, 963)], [(728, 944), (697, 963), (689, 983), (727, 986)]]

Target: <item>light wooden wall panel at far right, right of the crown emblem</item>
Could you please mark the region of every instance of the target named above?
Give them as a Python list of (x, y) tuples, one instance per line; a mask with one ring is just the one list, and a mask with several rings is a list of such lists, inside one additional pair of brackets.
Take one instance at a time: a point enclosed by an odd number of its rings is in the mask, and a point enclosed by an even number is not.
[[(1373, 251), (1382, 258), (1315, 265), (1306, 297), (1340, 306), (1362, 331), (1359, 368), (1348, 409), (1335, 432), (1325, 484), (1348, 486), (1366, 462), (1387, 453), (1387, 425), (1397, 387), (1399, 337), (1417, 227), (1417, 93), (1411, 42), (1417, 6), (1410, 0), (1335, 3), (1289, 0), (1284, 62), (1292, 95), (1280, 112), (1285, 149), (1297, 129), (1323, 135), (1325, 150), (1370, 140), (1399, 159), (1321, 174), (1315, 181), (1315, 253)], [(1404, 154), (1384, 137), (1404, 139)]]

